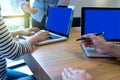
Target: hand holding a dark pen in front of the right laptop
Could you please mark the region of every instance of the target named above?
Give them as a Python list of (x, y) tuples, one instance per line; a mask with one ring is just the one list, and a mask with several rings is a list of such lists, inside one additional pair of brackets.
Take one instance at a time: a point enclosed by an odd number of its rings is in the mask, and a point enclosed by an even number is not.
[(105, 49), (107, 49), (107, 42), (102, 36), (95, 36), (94, 34), (86, 34), (82, 37), (86, 38), (82, 40), (81, 43), (84, 44), (85, 47), (95, 48), (98, 53), (106, 53)]

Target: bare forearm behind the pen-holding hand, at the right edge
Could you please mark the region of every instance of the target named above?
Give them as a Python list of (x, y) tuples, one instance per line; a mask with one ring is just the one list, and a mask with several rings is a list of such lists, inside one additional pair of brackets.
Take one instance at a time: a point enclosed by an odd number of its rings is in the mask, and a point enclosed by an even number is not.
[(108, 44), (108, 48), (106, 49), (106, 54), (120, 58), (120, 45)]

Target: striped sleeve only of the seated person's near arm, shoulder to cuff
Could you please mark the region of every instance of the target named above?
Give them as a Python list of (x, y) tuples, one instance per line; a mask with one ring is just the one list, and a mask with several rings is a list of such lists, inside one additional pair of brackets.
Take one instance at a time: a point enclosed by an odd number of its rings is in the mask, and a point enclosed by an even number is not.
[(30, 50), (31, 45), (28, 41), (18, 42), (13, 39), (0, 15), (0, 53), (7, 58), (15, 59)]

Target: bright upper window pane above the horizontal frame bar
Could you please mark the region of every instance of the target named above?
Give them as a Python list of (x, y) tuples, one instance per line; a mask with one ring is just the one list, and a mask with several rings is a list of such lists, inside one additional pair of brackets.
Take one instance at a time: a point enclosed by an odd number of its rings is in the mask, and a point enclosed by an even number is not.
[(1, 7), (3, 16), (24, 15), (19, 7), (19, 0), (2, 0)]

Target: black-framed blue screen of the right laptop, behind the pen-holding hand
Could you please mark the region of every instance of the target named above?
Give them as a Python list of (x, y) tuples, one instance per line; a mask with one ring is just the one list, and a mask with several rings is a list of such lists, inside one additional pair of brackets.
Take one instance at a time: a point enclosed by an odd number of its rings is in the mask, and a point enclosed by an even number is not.
[(104, 32), (106, 40), (120, 40), (120, 8), (82, 8), (82, 35)]

